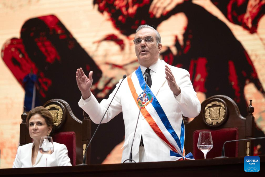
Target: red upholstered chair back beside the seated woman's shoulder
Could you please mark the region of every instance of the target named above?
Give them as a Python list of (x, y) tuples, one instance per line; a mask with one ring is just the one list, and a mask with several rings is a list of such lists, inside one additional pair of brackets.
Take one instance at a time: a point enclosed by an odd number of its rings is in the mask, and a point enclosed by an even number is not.
[(64, 144), (72, 165), (76, 165), (75, 132), (59, 132), (52, 136), (54, 142)]

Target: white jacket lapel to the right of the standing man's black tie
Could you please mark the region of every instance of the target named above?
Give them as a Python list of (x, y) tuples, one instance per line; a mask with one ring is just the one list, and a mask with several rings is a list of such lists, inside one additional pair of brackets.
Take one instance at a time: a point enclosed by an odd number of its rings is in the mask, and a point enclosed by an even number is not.
[(163, 83), (165, 83), (165, 76), (165, 62), (164, 60), (161, 60), (158, 67), (158, 72), (155, 74), (155, 78), (152, 78), (151, 90), (155, 96), (157, 95)]

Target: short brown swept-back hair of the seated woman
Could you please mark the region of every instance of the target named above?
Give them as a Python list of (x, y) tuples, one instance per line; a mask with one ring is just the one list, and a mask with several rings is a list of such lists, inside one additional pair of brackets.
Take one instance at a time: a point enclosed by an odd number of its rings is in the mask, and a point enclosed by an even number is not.
[(39, 114), (42, 118), (45, 119), (47, 126), (52, 127), (52, 131), (50, 132), (50, 136), (51, 136), (54, 130), (53, 117), (52, 117), (52, 114), (49, 112), (49, 110), (44, 108), (43, 106), (38, 106), (29, 111), (28, 117), (26, 119), (27, 127), (29, 128), (29, 119), (35, 114)]

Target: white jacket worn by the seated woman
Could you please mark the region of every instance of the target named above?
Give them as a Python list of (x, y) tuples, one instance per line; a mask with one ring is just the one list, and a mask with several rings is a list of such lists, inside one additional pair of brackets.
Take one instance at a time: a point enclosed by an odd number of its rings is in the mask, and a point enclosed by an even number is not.
[[(72, 166), (66, 146), (57, 142), (53, 142), (53, 146), (54, 152), (47, 155), (47, 167)], [(45, 167), (46, 155), (40, 152), (38, 152), (35, 164), (32, 165), (32, 147), (33, 143), (18, 147), (13, 168)]]

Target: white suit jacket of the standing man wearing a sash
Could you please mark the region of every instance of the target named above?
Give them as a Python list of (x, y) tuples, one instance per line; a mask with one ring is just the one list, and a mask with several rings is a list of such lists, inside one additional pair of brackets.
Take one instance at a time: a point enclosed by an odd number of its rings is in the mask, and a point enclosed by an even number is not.
[[(185, 117), (196, 117), (201, 111), (201, 104), (193, 89), (188, 71), (168, 65), (163, 60), (158, 60), (155, 65), (156, 67), (158, 66), (158, 69), (155, 76), (152, 76), (151, 90), (162, 106), (173, 129), (178, 137), (180, 137), (182, 115)], [(178, 96), (175, 96), (168, 86), (168, 82), (165, 78), (165, 65), (170, 67), (170, 70), (181, 89), (181, 93)], [(152, 66), (149, 68), (152, 70)], [(117, 86), (119, 84), (120, 83), (118, 83)], [(86, 100), (81, 98), (78, 104), (85, 112), (87, 112), (93, 122), (99, 123), (116, 90), (117, 87), (112, 94), (110, 94), (109, 98), (102, 100), (100, 104), (94, 95), (91, 95)], [(109, 122), (120, 112), (123, 114), (125, 124), (125, 142), (122, 152), (123, 162), (128, 159), (130, 155), (130, 147), (139, 113), (139, 108), (130, 92), (127, 78), (122, 82), (102, 123)], [(171, 149), (158, 137), (158, 135), (155, 134), (141, 113), (133, 142), (133, 160), (139, 162), (139, 144), (141, 135), (143, 135), (144, 148), (148, 162), (171, 160)]]

